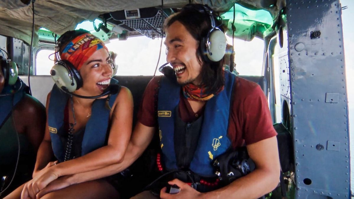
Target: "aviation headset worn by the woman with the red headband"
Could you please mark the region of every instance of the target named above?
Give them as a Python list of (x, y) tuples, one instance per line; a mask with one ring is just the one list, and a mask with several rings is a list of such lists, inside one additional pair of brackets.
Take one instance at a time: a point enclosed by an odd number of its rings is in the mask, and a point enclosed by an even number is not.
[[(82, 31), (82, 34), (89, 33), (88, 31), (85, 31), (82, 29), (80, 29), (80, 31)], [(79, 36), (79, 35), (73, 34), (73, 36), (69, 37), (68, 39), (65, 39), (64, 41), (63, 41), (64, 37), (61, 36), (58, 39), (58, 45), (61, 45), (62, 43), (65, 44), (66, 42), (73, 40), (77, 36)], [(82, 86), (83, 83), (82, 83), (82, 78), (81, 78), (79, 71), (69, 61), (59, 60), (60, 59), (59, 49), (57, 49), (55, 54), (56, 54), (55, 56), (58, 61), (54, 64), (54, 66), (52, 67), (52, 69), (50, 71), (50, 74), (51, 74), (55, 84), (60, 89), (70, 92), (70, 93), (74, 92), (75, 90), (80, 89), (80, 87)], [(113, 68), (113, 74), (112, 74), (112, 76), (113, 76), (117, 72), (117, 67), (113, 63), (113, 60), (112, 60), (112, 68)]]

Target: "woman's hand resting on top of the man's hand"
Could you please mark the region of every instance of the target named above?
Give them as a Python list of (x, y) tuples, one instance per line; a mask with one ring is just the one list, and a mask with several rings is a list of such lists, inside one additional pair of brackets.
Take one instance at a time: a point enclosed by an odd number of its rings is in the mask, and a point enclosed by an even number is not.
[(50, 182), (59, 177), (56, 174), (54, 167), (50, 166), (48, 168), (42, 169), (35, 178), (28, 181), (23, 187), (21, 193), (21, 199), (35, 199), (36, 194), (44, 189)]

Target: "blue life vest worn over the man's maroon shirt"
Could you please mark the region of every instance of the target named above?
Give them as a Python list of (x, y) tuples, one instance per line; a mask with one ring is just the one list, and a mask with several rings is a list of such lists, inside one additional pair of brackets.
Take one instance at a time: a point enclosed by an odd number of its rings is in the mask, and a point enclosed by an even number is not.
[[(231, 145), (227, 128), (234, 80), (235, 75), (225, 71), (224, 89), (205, 104), (198, 146), (189, 166), (191, 171), (204, 177), (215, 176), (212, 160), (225, 153)], [(180, 93), (181, 86), (176, 81), (162, 78), (158, 94), (158, 122), (160, 147), (165, 166), (169, 170), (177, 169), (173, 138)]]

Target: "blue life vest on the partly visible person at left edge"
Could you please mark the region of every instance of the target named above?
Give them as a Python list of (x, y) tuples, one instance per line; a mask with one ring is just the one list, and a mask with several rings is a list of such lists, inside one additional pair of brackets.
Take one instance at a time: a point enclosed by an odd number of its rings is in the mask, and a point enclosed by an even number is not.
[[(25, 96), (25, 87), (26, 84), (23, 83), (21, 79), (17, 78), (15, 85), (7, 85), (1, 91), (0, 95), (5, 96), (0, 96), (0, 128), (7, 120), (8, 116), (11, 115), (13, 107)], [(7, 95), (12, 92), (13, 95)]]

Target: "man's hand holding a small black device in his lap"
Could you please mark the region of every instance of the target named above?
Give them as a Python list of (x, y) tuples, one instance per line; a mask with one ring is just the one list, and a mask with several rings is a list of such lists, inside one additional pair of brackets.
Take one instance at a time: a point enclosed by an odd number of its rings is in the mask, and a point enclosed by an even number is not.
[(160, 191), (160, 198), (162, 198), (162, 199), (169, 199), (169, 198), (198, 199), (198, 198), (202, 198), (203, 193), (196, 191), (191, 186), (189, 186), (189, 184), (184, 183), (178, 179), (174, 179), (168, 183), (171, 185), (176, 184), (181, 190), (177, 194), (169, 194), (169, 193), (166, 193), (166, 187), (164, 187)]

